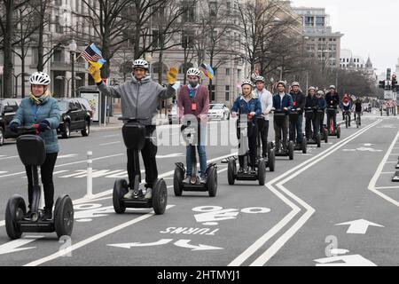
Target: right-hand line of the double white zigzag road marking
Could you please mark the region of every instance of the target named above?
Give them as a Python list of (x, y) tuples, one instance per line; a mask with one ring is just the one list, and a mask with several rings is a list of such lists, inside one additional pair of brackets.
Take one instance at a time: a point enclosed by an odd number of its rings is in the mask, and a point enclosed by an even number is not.
[(331, 154), (337, 152), (342, 146), (347, 145), (350, 141), (354, 140), (355, 138), (359, 137), (360, 135), (364, 134), (365, 131), (370, 130), (373, 126), (377, 125), (379, 122), (374, 122), (371, 125), (369, 125), (367, 128), (364, 130), (361, 130), (359, 132), (356, 132), (355, 135), (352, 137), (349, 137), (342, 141), (340, 145), (335, 145), (332, 146), (332, 151), (324, 154), (323, 156), (319, 157), (317, 160), (313, 162), (309, 162), (305, 167), (301, 168), (301, 170), (297, 170), (295, 173), (290, 175), (289, 177), (286, 177), (284, 180), (278, 182), (277, 186), (278, 188), (281, 189), (284, 193), (286, 193), (289, 197), (291, 197), (294, 201), (297, 201), (299, 204), (301, 204), (302, 207), (306, 209), (305, 214), (303, 214), (300, 219), (292, 226), (290, 227), (286, 233), (284, 233), (281, 237), (278, 238), (277, 241), (275, 241), (270, 248), (268, 248), (264, 253), (262, 253), (261, 256), (259, 256), (257, 259), (254, 260), (250, 266), (262, 266), (266, 264), (270, 258), (278, 252), (280, 248), (282, 248), (287, 241), (289, 241), (295, 233), (297, 233), (303, 225), (309, 220), (309, 218), (315, 213), (315, 209), (313, 209), (308, 203), (305, 201), (301, 200), (298, 196), (295, 194), (291, 193), (288, 189), (286, 189), (284, 184), (286, 184), (288, 181), (292, 180), (294, 177), (297, 177), (300, 175), (303, 171), (308, 170), (310, 167), (314, 166), (317, 162), (320, 162), (322, 160), (325, 160), (326, 157), (330, 156)]

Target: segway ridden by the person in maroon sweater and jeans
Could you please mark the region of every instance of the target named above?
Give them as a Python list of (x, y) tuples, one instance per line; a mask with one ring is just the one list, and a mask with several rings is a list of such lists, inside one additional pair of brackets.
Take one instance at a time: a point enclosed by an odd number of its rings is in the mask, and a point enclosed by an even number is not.
[[(207, 165), (206, 183), (200, 183), (197, 175), (197, 142), (200, 141), (200, 125), (194, 125), (187, 121), (182, 125), (184, 140), (189, 144), (192, 152), (192, 178), (189, 183), (184, 183), (186, 169), (183, 162), (176, 162), (175, 175), (173, 177), (173, 189), (176, 196), (182, 196), (183, 192), (207, 192), (210, 197), (216, 196), (217, 191), (217, 166), (215, 163)], [(198, 133), (198, 135), (197, 135)], [(197, 138), (197, 141), (196, 141)]]

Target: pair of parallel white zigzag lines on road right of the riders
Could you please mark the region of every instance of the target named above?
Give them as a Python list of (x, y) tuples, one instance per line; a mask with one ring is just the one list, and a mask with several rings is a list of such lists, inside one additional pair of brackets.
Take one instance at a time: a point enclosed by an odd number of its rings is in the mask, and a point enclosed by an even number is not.
[[(325, 159), (332, 152), (337, 151), (341, 146), (346, 145), (349, 141), (351, 141), (354, 138), (357, 138), (357, 136), (360, 136), (366, 130), (369, 130), (374, 125), (377, 125), (379, 122), (380, 121), (373, 122), (372, 124), (370, 124), (369, 126), (364, 128), (363, 130), (357, 131), (356, 133), (352, 134), (348, 138), (345, 138), (344, 140), (341, 140), (337, 144), (331, 146), (329, 149), (326, 149), (324, 152), (322, 152), (320, 154), (317, 154), (315, 157), (310, 158), (308, 161), (302, 162), (298, 166), (294, 167), (291, 170), (286, 171), (286, 173), (274, 178), (269, 183), (267, 183), (266, 187), (269, 188), (272, 193), (277, 195), (279, 199), (284, 201), (293, 210), (288, 215), (286, 215), (286, 217), (284, 217), (281, 221), (279, 221), (277, 225), (273, 226), (267, 233), (265, 233), (264, 235), (262, 235), (261, 238), (259, 238), (257, 241), (255, 241), (249, 248), (246, 248), (246, 250), (241, 255), (237, 256), (229, 264), (229, 266), (239, 266), (239, 265), (243, 264), (246, 261), (247, 258), (252, 256), (255, 251), (257, 251), (258, 249), (262, 248), (264, 243), (266, 243), (274, 235), (276, 235), (284, 226), (286, 226), (293, 219), (293, 217), (295, 217), (301, 211), (301, 209), (297, 205), (295, 205), (292, 201), (288, 200), (285, 195), (283, 195), (282, 193), (278, 192), (278, 190), (273, 186), (274, 183), (278, 182), (278, 180), (281, 180), (284, 177), (288, 177), (287, 180), (295, 177), (296, 175), (298, 175), (303, 170), (307, 170), (314, 163)], [(309, 167), (304, 168), (304, 166), (306, 166), (308, 164), (309, 164)], [(279, 184), (278, 187), (281, 188), (283, 186)], [(284, 189), (284, 187), (283, 187), (283, 189)], [(286, 189), (284, 189), (283, 191), (288, 192)], [(289, 193), (289, 195), (293, 195), (293, 194)], [(299, 198), (297, 198), (295, 196), (294, 200), (297, 200), (297, 199), (299, 199)], [(301, 201), (300, 204), (306, 204), (306, 203), (304, 201)], [(283, 235), (283, 237), (286, 237), (286, 241), (288, 241), (288, 239), (291, 238), (293, 233), (295, 233), (295, 229), (299, 230), (299, 228), (301, 228), (301, 224), (304, 224), (306, 222), (306, 220), (313, 214), (313, 210), (314, 209), (312, 209), (308, 204), (306, 204), (305, 208), (308, 209), (308, 212), (305, 213), (305, 215), (303, 215), (303, 217), (292, 227), (293, 231), (290, 229), (290, 230), (288, 230), (286, 232), (285, 235)], [(290, 234), (292, 234), (292, 235), (290, 236)], [(281, 248), (282, 245), (284, 245), (283, 239), (280, 238), (280, 239), (278, 239), (278, 241), (280, 241), (278, 244), (276, 242), (274, 243), (274, 245), (277, 244), (277, 246), (273, 247), (273, 250), (269, 250), (268, 249), (265, 253), (263, 253), (263, 255), (260, 258), (258, 258), (258, 261), (256, 262), (256, 260), (255, 260), (255, 262), (253, 264), (264, 262), (265, 260), (267, 262), (267, 260), (278, 251), (278, 249), (279, 249), (278, 247)]]

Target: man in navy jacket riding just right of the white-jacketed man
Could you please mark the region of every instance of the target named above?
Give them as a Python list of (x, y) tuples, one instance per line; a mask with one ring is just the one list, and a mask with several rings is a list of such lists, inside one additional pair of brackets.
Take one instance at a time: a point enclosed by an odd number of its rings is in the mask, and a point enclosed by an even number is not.
[(286, 152), (288, 145), (288, 129), (289, 119), (288, 114), (293, 109), (293, 98), (286, 93), (286, 82), (278, 82), (278, 93), (273, 96), (273, 108), (286, 113), (286, 118), (281, 125), (274, 121), (274, 132), (276, 135), (276, 145), (278, 151), (281, 149), (281, 131), (283, 132), (283, 151)]

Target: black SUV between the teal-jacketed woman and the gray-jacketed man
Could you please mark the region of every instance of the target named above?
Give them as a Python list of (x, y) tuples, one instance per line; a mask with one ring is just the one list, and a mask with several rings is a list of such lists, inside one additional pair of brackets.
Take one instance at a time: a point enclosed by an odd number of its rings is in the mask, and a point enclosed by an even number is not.
[(71, 132), (81, 131), (82, 136), (89, 136), (91, 115), (81, 102), (81, 99), (59, 99), (61, 122), (58, 132), (62, 138), (69, 138)]

